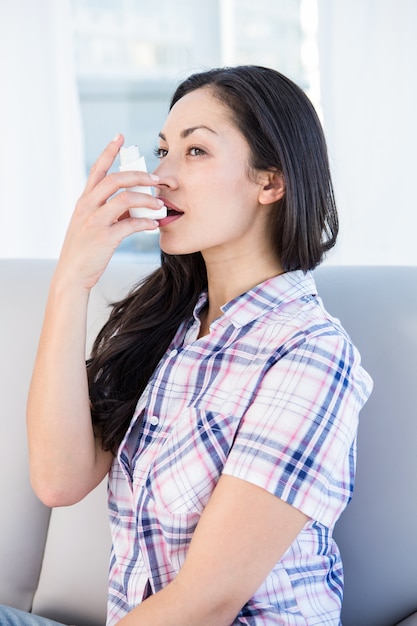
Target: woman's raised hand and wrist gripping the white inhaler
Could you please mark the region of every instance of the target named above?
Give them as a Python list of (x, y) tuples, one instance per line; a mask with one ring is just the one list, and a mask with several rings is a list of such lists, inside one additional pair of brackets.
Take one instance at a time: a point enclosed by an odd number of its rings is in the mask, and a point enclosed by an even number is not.
[(130, 217), (129, 209), (136, 206), (160, 209), (162, 201), (128, 189), (134, 185), (155, 185), (158, 177), (136, 171), (108, 173), (123, 141), (122, 135), (115, 137), (91, 168), (57, 267), (61, 278), (73, 286), (74, 281), (78, 282), (87, 291), (98, 281), (125, 237), (158, 227), (155, 220)]

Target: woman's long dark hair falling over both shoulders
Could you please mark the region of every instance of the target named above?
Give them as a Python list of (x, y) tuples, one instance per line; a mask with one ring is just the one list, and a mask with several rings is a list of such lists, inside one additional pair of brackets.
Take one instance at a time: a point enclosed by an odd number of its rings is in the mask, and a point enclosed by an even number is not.
[[(246, 138), (253, 169), (278, 171), (285, 196), (271, 212), (271, 237), (285, 271), (318, 265), (336, 242), (338, 219), (320, 121), (304, 92), (275, 70), (258, 66), (194, 74), (174, 104), (210, 88)], [(161, 267), (113, 306), (87, 362), (92, 419), (104, 449), (115, 452), (136, 403), (181, 322), (207, 287), (199, 252), (161, 254)]]

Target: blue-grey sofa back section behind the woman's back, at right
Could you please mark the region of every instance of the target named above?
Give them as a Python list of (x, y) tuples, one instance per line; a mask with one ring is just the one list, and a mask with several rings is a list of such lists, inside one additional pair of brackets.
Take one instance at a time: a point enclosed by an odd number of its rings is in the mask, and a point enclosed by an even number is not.
[(392, 626), (417, 610), (417, 267), (322, 267), (316, 282), (374, 380), (354, 496), (335, 529), (342, 621)]

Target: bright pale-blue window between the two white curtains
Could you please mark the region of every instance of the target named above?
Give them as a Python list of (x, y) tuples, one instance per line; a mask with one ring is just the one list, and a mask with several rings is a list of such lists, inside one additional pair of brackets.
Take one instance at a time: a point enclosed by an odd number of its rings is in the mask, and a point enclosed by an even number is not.
[[(149, 169), (176, 84), (219, 65), (274, 67), (320, 108), (316, 0), (72, 0), (86, 169), (117, 132)], [(158, 254), (156, 234), (123, 252)]]

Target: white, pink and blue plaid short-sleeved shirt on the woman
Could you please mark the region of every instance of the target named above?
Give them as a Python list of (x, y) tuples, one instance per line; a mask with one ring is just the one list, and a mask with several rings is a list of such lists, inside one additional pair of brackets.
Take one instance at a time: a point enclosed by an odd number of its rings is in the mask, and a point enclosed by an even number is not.
[(310, 518), (233, 624), (336, 626), (343, 578), (332, 529), (352, 495), (371, 379), (310, 273), (232, 300), (197, 339), (206, 300), (179, 327), (110, 472), (108, 625), (175, 578), (229, 474)]

